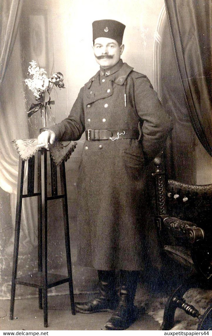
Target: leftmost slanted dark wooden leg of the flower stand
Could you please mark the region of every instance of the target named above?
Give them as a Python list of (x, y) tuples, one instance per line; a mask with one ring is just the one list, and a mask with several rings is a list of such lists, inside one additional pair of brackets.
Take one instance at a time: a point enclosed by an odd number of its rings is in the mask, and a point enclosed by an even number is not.
[(13, 266), (12, 266), (12, 287), (11, 287), (11, 301), (10, 301), (10, 320), (13, 320), (14, 303), (15, 303), (15, 280), (17, 276), (18, 264), (18, 247), (20, 238), (20, 220), (21, 220), (21, 207), (23, 196), (23, 175), (24, 175), (24, 161), (19, 158), (18, 164), (18, 185), (17, 185), (17, 202), (15, 214), (15, 239), (14, 239), (14, 252), (13, 252)]

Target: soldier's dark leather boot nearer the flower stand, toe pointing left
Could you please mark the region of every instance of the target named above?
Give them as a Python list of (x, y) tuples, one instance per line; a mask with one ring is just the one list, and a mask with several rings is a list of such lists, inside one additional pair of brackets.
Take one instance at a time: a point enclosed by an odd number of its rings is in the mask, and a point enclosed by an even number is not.
[(114, 310), (118, 305), (118, 294), (115, 286), (115, 271), (98, 270), (99, 296), (93, 301), (76, 303), (76, 311), (83, 314), (92, 314), (99, 311)]

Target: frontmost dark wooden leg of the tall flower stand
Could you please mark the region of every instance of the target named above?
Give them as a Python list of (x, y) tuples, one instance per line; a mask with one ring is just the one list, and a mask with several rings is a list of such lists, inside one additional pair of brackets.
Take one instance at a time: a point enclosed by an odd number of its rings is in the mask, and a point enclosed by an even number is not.
[(47, 278), (47, 153), (41, 155), (41, 208), (42, 208), (42, 277), (43, 277), (43, 305), (44, 327), (48, 327), (48, 278)]

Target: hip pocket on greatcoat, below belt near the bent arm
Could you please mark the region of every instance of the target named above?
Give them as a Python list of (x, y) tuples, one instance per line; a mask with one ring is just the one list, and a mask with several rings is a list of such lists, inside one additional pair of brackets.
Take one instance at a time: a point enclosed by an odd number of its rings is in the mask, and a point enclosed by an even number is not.
[(123, 151), (124, 167), (129, 178), (140, 179), (144, 171), (144, 156), (141, 145), (131, 145)]

